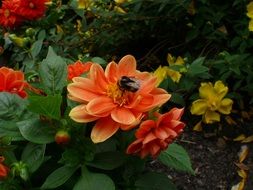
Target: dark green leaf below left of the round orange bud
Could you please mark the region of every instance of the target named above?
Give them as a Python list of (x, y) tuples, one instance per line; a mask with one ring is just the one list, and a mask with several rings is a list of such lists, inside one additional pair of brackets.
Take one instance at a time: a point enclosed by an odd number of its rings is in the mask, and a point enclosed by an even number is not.
[(27, 144), (22, 153), (21, 160), (27, 164), (29, 172), (35, 172), (43, 163), (45, 150), (45, 144)]

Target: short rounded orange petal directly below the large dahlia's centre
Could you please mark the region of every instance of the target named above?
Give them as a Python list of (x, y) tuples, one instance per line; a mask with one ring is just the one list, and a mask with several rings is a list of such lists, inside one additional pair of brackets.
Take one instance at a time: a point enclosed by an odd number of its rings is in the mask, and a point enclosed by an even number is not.
[(131, 125), (137, 120), (135, 115), (129, 109), (124, 107), (117, 107), (112, 110), (111, 117), (114, 121), (123, 125)]

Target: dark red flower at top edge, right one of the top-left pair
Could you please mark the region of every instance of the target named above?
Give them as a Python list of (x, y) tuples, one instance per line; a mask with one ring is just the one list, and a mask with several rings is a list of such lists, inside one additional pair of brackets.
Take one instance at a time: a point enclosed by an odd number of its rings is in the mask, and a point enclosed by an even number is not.
[(47, 0), (21, 0), (17, 13), (28, 20), (41, 18), (46, 12)]

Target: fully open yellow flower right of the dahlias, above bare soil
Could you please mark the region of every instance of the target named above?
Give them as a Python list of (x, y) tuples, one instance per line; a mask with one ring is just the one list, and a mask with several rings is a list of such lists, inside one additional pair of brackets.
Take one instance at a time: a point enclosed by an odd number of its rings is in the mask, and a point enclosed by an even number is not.
[(214, 123), (220, 121), (220, 113), (230, 114), (233, 101), (224, 98), (228, 92), (228, 87), (222, 81), (212, 83), (201, 83), (199, 88), (200, 99), (195, 100), (191, 106), (193, 115), (203, 115), (204, 123)]

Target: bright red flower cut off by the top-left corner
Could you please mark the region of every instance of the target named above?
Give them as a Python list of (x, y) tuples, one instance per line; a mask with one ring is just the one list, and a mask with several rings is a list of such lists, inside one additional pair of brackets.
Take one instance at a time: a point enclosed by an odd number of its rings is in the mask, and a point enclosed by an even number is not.
[(5, 0), (0, 9), (0, 25), (13, 28), (23, 21), (22, 17), (16, 13), (19, 6), (19, 0)]

